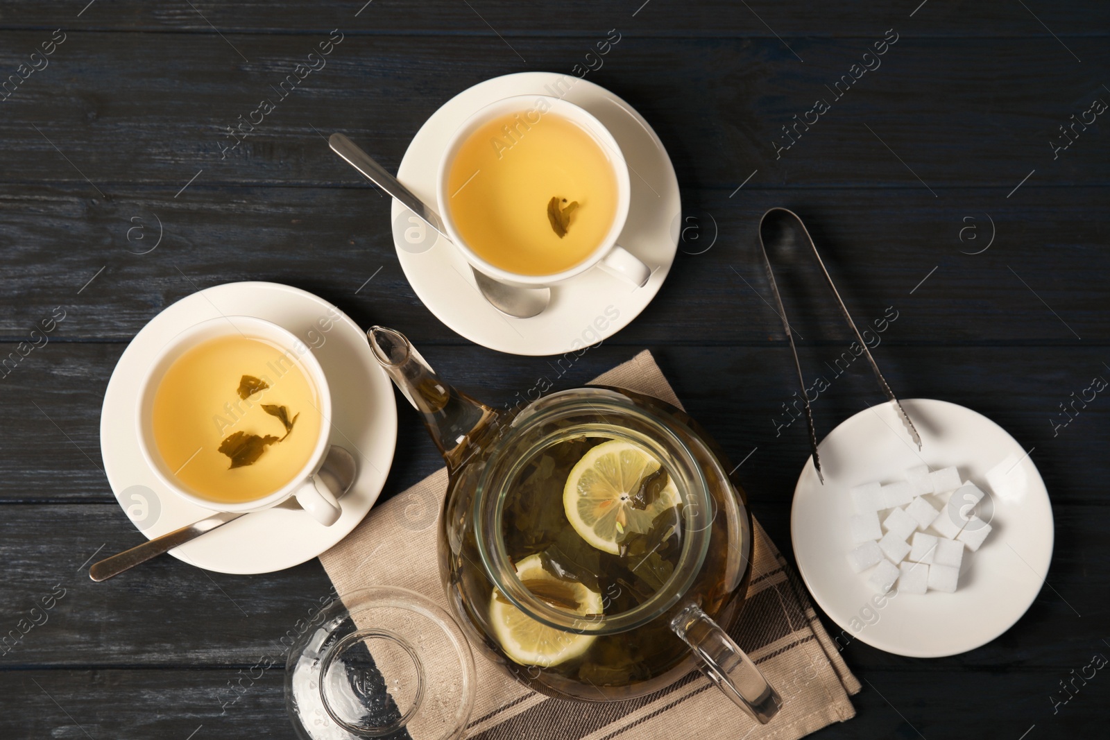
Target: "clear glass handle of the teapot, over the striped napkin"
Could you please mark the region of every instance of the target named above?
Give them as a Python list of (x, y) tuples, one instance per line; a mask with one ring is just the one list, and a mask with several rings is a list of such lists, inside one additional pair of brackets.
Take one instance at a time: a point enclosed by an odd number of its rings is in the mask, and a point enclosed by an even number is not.
[(670, 628), (700, 660), (702, 672), (725, 692), (733, 703), (766, 724), (778, 712), (783, 700), (744, 655), (733, 638), (697, 605), (687, 604)]

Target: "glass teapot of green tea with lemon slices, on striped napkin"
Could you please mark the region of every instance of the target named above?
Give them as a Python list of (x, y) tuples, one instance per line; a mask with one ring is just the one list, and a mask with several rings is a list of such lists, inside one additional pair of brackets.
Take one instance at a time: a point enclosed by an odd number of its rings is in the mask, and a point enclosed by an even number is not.
[(689, 416), (603, 386), (495, 409), (398, 332), (367, 336), (446, 463), (440, 572), (486, 657), (584, 701), (645, 696), (697, 667), (760, 722), (778, 711), (725, 631), (750, 576), (750, 514)]

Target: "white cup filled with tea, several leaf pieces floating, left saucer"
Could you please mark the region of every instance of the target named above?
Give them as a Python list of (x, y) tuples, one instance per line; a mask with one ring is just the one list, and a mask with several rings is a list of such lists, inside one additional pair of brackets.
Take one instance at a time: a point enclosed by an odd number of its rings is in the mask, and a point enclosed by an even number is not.
[(334, 524), (339, 491), (316, 473), (329, 449), (331, 394), (320, 363), (286, 330), (249, 316), (205, 321), (161, 351), (139, 401), (139, 440), (161, 481), (220, 511), (290, 496)]

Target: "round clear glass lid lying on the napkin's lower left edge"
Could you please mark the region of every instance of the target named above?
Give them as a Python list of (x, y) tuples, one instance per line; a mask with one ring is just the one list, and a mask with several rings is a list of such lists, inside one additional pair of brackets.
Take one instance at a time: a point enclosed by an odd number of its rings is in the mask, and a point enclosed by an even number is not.
[(431, 599), (360, 589), (340, 595), (313, 626), (285, 667), (285, 704), (302, 740), (463, 737), (474, 662), (458, 625)]

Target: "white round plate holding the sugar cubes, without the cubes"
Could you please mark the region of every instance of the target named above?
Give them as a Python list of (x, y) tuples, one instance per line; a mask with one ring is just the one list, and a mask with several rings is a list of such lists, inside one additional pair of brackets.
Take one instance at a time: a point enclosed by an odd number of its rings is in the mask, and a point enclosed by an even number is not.
[[(1032, 604), (1052, 559), (1052, 507), (1026, 450), (989, 418), (945, 401), (901, 403), (921, 435), (921, 450), (889, 403), (835, 428), (817, 447), (825, 485), (810, 457), (794, 491), (794, 555), (814, 600), (840, 626), (841, 637), (900, 656), (952, 656), (993, 640)], [(922, 464), (934, 470), (955, 465), (963, 480), (986, 491), (989, 506), (979, 508), (993, 507), (992, 530), (978, 551), (965, 549), (955, 594), (872, 600), (870, 571), (855, 574), (848, 565), (855, 547), (849, 489), (905, 480), (907, 468)]]

